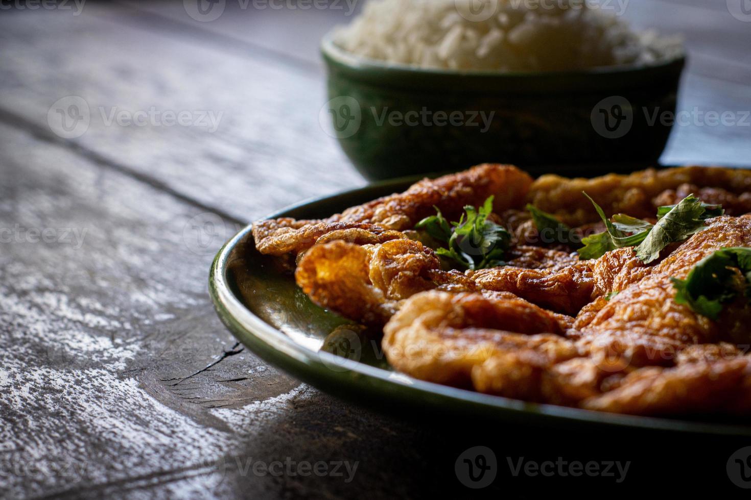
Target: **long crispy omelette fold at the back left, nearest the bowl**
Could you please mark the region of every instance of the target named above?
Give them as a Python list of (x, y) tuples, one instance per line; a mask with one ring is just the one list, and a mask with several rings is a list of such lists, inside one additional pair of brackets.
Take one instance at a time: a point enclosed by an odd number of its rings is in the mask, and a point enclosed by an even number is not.
[(400, 238), (399, 231), (412, 229), (424, 217), (436, 214), (436, 208), (448, 220), (459, 220), (465, 205), (481, 205), (489, 196), (494, 196), (494, 211), (520, 206), (531, 184), (532, 178), (515, 166), (486, 163), (423, 179), (404, 193), (348, 208), (324, 220), (261, 220), (253, 224), (253, 238), (259, 252), (276, 256), (297, 254), (334, 239), (383, 243)]

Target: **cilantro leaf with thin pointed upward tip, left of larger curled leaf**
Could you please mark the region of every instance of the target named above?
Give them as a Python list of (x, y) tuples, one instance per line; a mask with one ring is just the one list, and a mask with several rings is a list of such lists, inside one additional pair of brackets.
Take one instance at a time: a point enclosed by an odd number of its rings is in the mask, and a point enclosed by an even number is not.
[[(605, 232), (582, 238), (581, 242), (584, 247), (579, 250), (579, 258), (582, 260), (599, 259), (611, 250), (640, 244), (652, 229), (652, 224), (646, 220), (635, 219), (623, 214), (615, 215), (613, 217), (615, 223), (612, 223), (608, 220), (608, 217), (605, 217), (605, 212), (602, 211), (595, 200), (590, 198), (587, 193), (584, 193), (584, 196), (587, 196), (590, 202), (595, 205), (595, 210), (602, 222), (605, 223)], [(629, 235), (629, 233), (634, 234)]]

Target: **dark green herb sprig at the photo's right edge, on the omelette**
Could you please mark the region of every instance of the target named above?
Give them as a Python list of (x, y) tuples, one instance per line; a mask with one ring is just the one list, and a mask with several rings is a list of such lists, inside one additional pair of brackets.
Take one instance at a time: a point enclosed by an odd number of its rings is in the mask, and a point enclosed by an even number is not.
[(746, 278), (745, 295), (751, 301), (751, 248), (721, 248), (701, 259), (685, 280), (671, 277), (677, 290), (675, 301), (697, 314), (716, 320), (727, 301), (735, 298), (733, 268)]

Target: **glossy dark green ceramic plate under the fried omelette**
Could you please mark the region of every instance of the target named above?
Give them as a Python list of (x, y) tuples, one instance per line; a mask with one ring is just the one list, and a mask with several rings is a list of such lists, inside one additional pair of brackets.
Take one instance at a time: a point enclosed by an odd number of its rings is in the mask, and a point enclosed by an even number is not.
[[(319, 218), (403, 190), (415, 181), (386, 181), (303, 202), (269, 217)], [(538, 405), (412, 379), (388, 367), (378, 339), (315, 306), (290, 274), (255, 251), (250, 226), (216, 256), (209, 289), (222, 322), (252, 352), (280, 370), (345, 400), (397, 415), (448, 415), (540, 427), (673, 430), (751, 436), (738, 421), (673, 420)], [(333, 349), (332, 349), (333, 347)], [(331, 354), (337, 350), (340, 355)]]

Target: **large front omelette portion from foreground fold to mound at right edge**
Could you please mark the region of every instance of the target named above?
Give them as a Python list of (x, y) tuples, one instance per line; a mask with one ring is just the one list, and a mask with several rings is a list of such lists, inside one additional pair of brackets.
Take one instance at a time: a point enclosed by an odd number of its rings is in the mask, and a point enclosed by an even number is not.
[[(638, 415), (748, 412), (751, 358), (735, 347), (751, 342), (748, 302), (726, 304), (713, 322), (677, 304), (669, 281), (685, 278), (722, 247), (751, 247), (751, 217), (711, 220), (657, 265), (635, 265), (626, 253), (632, 249), (606, 254), (584, 280), (601, 295), (572, 328), (545, 322), (550, 316), (538, 311), (553, 313), (530, 309), (509, 292), (461, 299), (423, 292), (404, 301), (386, 325), (385, 353), (417, 378), (460, 385), (469, 379), (476, 391), (523, 400)], [(609, 300), (602, 295), (616, 291)], [(514, 304), (521, 312), (517, 319), (476, 313), (483, 301), (498, 310), (521, 301)]]

